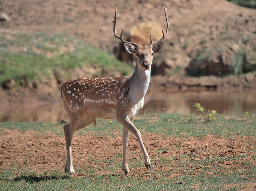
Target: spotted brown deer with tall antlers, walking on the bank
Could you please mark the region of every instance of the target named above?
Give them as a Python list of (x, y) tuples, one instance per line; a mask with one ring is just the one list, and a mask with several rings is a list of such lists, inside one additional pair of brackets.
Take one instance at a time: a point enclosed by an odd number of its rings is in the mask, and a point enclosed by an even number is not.
[(114, 24), (114, 37), (120, 39), (128, 53), (136, 55), (137, 58), (134, 73), (131, 77), (80, 77), (65, 82), (60, 88), (64, 107), (70, 118), (70, 122), (63, 126), (67, 151), (65, 173), (68, 172), (70, 175), (75, 175), (71, 148), (74, 132), (92, 123), (96, 126), (96, 118), (114, 119), (122, 124), (122, 170), (126, 175), (131, 174), (127, 161), (130, 132), (136, 136), (142, 148), (146, 169), (151, 170), (150, 158), (143, 144), (141, 133), (132, 121), (144, 105), (144, 96), (150, 83), (150, 68), (153, 55), (162, 50), (165, 44), (163, 40), (168, 34), (170, 21), (165, 7), (164, 12), (167, 27), (165, 33), (162, 29), (163, 37), (158, 41), (152, 42), (150, 35), (150, 43), (148, 45), (139, 45), (132, 40), (125, 41), (123, 39), (124, 28), (120, 36), (116, 35), (116, 10), (112, 21)]

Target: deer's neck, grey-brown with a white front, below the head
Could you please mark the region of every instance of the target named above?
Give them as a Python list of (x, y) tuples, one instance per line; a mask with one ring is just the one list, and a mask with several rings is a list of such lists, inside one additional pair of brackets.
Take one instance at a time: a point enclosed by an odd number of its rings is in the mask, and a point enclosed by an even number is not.
[(141, 100), (146, 94), (150, 82), (150, 68), (142, 69), (136, 63), (132, 77), (130, 77), (129, 96), (136, 101)]

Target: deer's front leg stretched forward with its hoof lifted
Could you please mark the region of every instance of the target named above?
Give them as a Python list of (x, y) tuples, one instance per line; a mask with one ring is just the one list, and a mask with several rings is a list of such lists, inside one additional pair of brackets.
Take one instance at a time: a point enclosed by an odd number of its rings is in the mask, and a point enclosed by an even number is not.
[(130, 132), (132, 132), (136, 138), (138, 139), (140, 146), (142, 148), (143, 152), (143, 158), (145, 162), (145, 167), (148, 170), (151, 170), (151, 164), (150, 164), (150, 159), (148, 156), (148, 153), (146, 151), (146, 148), (144, 147), (144, 144), (142, 142), (141, 134), (140, 131), (134, 126), (134, 124), (131, 122), (131, 120), (126, 116), (125, 118), (118, 118), (118, 121)]

